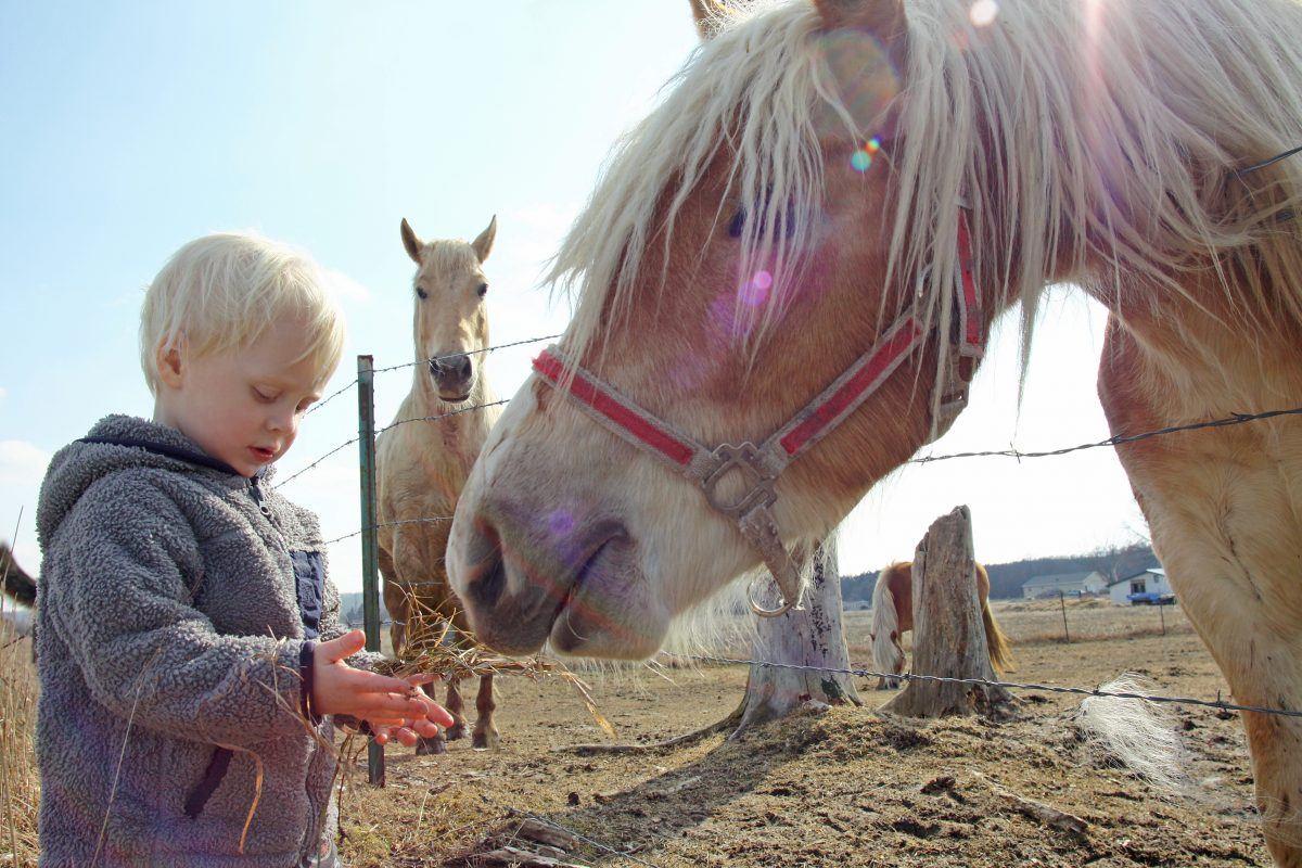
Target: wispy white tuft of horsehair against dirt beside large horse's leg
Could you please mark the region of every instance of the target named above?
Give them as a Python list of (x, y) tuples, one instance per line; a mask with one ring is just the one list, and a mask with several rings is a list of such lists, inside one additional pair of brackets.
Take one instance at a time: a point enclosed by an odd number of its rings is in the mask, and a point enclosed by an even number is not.
[[(1104, 692), (1150, 694), (1154, 685), (1124, 673), (1100, 687)], [(1143, 699), (1090, 696), (1073, 722), (1085, 743), (1108, 755), (1154, 786), (1178, 795), (1194, 795), (1191, 761), (1176, 720)]]

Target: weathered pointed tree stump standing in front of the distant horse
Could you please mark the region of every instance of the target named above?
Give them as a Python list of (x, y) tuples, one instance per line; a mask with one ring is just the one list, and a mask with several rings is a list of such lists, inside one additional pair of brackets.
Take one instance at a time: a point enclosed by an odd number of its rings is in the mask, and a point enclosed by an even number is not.
[[(995, 681), (986, 648), (986, 625), (976, 596), (971, 513), (958, 506), (941, 515), (913, 557), (913, 668), (943, 678)], [(910, 681), (883, 712), (905, 717), (1013, 716), (1016, 701), (1003, 687)]]

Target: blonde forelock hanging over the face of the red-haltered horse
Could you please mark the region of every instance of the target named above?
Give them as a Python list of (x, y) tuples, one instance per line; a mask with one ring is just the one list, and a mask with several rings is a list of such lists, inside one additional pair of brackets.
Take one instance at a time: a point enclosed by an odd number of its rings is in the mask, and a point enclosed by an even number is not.
[[(745, 221), (737, 273), (763, 269), (781, 285), (797, 272), (823, 187), (812, 96), (827, 86), (827, 73), (811, 39), (816, 29), (818, 14), (806, 3), (732, 10), (661, 104), (616, 146), (548, 275), (575, 301), (572, 347), (582, 351), (620, 321), (651, 245), (663, 245), (668, 267), (668, 251), (682, 241), (674, 226), (684, 206), (720, 157), (728, 194), (715, 225), (728, 224), (724, 208), (732, 200), (762, 217)], [(659, 277), (664, 290), (665, 275)], [(754, 305), (742, 295), (736, 337), (754, 346), (780, 319), (783, 298), (772, 293)]]

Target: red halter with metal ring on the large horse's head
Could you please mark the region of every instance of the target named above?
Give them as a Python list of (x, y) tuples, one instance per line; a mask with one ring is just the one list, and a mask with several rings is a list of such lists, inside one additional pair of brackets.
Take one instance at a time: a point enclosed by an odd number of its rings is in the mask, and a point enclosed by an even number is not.
[[(948, 428), (966, 406), (967, 384), (971, 381), (975, 360), (984, 353), (980, 294), (973, 277), (971, 234), (963, 211), (958, 212), (958, 277), (954, 281), (958, 358), (947, 375), (940, 418), (935, 426), (937, 431)], [(783, 545), (771, 509), (777, 500), (775, 491), (777, 476), (796, 458), (845, 422), (894, 373), (909, 354), (923, 344), (927, 336), (928, 332), (918, 312), (909, 308), (881, 333), (871, 350), (861, 355), (790, 422), (758, 446), (743, 442), (737, 446), (723, 444), (711, 449), (668, 422), (651, 415), (578, 366), (572, 366), (572, 373), (566, 377), (566, 364), (556, 346), (543, 350), (534, 359), (534, 371), (543, 383), (562, 389), (562, 393), (573, 398), (581, 410), (612, 433), (659, 458), (702, 487), (710, 505), (737, 523), (742, 536), (756, 549), (773, 574), (783, 597), (780, 605), (776, 609), (766, 609), (755, 601), (754, 595), (750, 605), (759, 616), (775, 617), (792, 608), (799, 609), (801, 592), (799, 571)], [(717, 492), (719, 481), (733, 470), (746, 478), (747, 489), (734, 501), (723, 501)]]

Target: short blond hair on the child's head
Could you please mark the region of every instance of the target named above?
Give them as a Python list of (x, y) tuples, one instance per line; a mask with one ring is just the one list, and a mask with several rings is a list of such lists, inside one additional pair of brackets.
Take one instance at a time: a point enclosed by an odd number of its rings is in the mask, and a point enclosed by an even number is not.
[(145, 293), (141, 367), (158, 394), (158, 357), (191, 357), (251, 346), (281, 316), (297, 316), (324, 383), (344, 351), (344, 316), (320, 267), (286, 245), (251, 233), (195, 238), (168, 260)]

